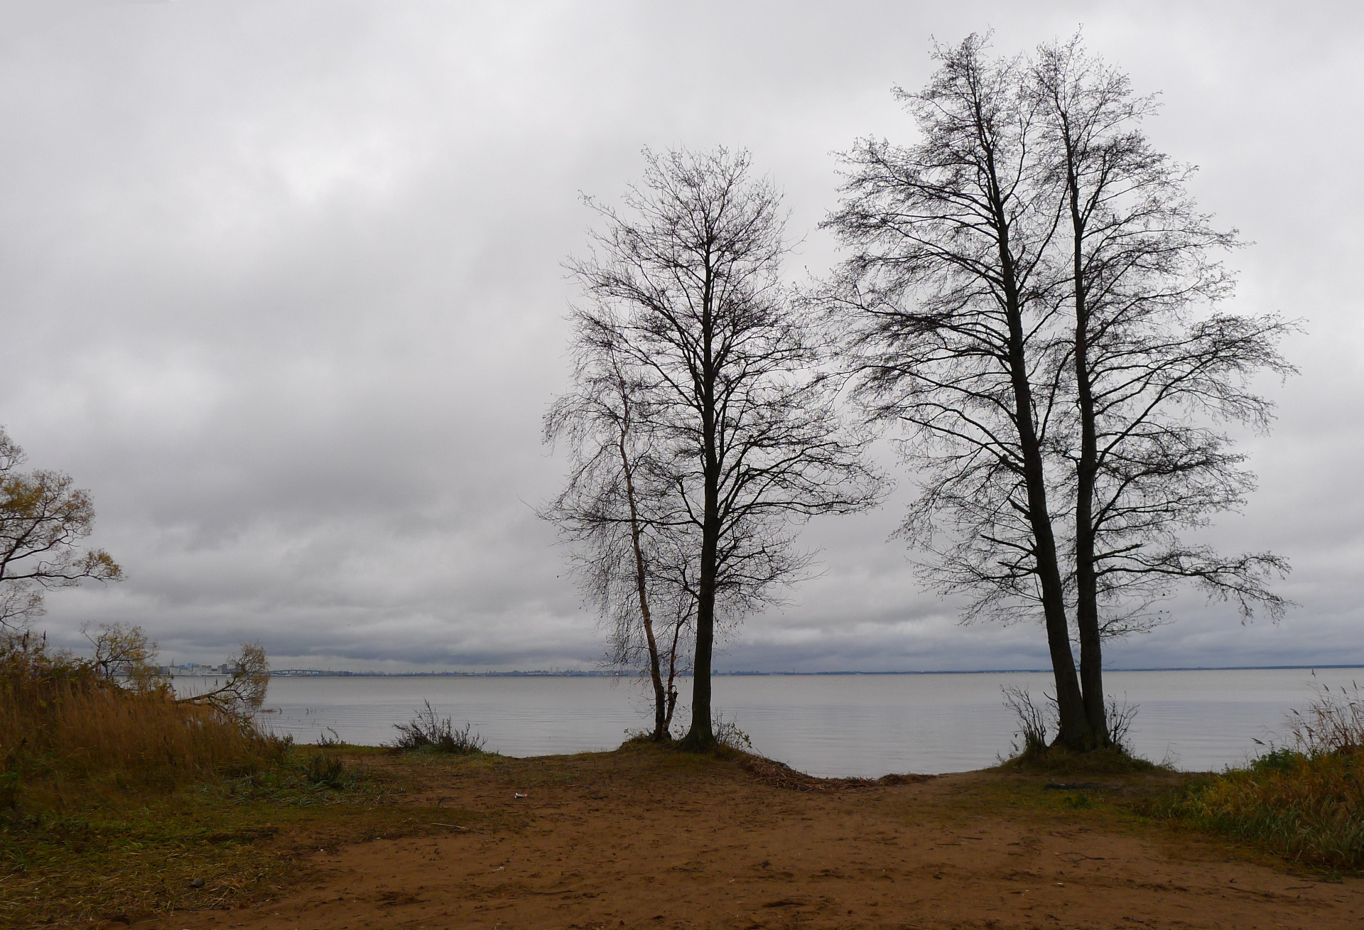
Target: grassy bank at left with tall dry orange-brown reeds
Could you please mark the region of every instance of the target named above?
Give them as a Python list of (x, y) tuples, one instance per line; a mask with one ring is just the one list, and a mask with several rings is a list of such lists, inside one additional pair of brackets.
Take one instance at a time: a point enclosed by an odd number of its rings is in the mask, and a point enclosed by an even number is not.
[(311, 828), (325, 825), (336, 841), (382, 832), (390, 783), (364, 755), (296, 747), (221, 704), (177, 701), (155, 678), (115, 680), (41, 641), (10, 641), (0, 649), (0, 925), (269, 895)]

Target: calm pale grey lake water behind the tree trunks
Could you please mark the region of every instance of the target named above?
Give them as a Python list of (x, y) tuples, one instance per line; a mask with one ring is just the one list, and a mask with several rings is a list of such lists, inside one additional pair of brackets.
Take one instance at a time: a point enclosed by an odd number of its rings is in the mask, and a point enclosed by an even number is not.
[[(1349, 685), (1364, 680), (1361, 672), (1108, 672), (1105, 682), (1140, 705), (1132, 731), (1139, 754), (1207, 770), (1254, 754), (1255, 739), (1270, 739), (1290, 708), (1307, 705), (1314, 680)], [(960, 772), (1008, 751), (1015, 725), (1000, 701), (1004, 685), (1041, 700), (1050, 675), (722, 676), (715, 705), (754, 750), (812, 775)], [(299, 742), (330, 727), (348, 743), (378, 745), (423, 700), (457, 725), (471, 723), (487, 749), (506, 755), (614, 749), (648, 717), (637, 685), (606, 678), (276, 678), (266, 698), (276, 712), (263, 720)], [(686, 719), (681, 710), (678, 719)]]

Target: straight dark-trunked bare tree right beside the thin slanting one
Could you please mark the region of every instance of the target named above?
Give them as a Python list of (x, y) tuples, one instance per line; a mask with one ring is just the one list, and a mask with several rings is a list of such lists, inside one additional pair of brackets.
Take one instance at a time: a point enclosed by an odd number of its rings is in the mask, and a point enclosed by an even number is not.
[(746, 153), (645, 151), (625, 213), (603, 221), (570, 265), (588, 303), (573, 314), (585, 350), (638, 372), (637, 416), (659, 480), (659, 526), (690, 540), (696, 646), (689, 749), (715, 745), (711, 668), (717, 604), (769, 603), (807, 565), (792, 521), (874, 500), (862, 442), (837, 417), (821, 374), (825, 335), (780, 282), (780, 198), (749, 177)]

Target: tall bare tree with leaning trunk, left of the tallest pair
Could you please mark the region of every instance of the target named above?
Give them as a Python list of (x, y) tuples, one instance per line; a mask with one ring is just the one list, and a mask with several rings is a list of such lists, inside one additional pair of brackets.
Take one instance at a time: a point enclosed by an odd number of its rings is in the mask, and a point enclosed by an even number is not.
[[(1090, 742), (1071, 649), (1046, 445), (1057, 415), (1050, 245), (1057, 203), (1034, 158), (1022, 65), (985, 40), (938, 48), (928, 87), (896, 90), (922, 140), (863, 139), (825, 226), (851, 256), (833, 290), (857, 393), (907, 431), (923, 492), (906, 535), (968, 616), (1041, 608), (1060, 739)], [(943, 536), (947, 540), (943, 541)]]

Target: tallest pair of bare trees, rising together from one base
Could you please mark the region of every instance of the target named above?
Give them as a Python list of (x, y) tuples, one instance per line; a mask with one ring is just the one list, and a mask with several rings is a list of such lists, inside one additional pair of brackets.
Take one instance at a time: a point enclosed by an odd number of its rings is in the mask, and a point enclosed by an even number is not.
[(1289, 371), (1285, 323), (1215, 311), (1232, 282), (1210, 255), (1234, 237), (1140, 134), (1151, 101), (1078, 40), (1027, 60), (971, 35), (937, 57), (896, 91), (921, 140), (846, 155), (831, 307), (869, 419), (906, 431), (926, 580), (971, 592), (968, 619), (1041, 614), (1057, 739), (1102, 746), (1101, 641), (1154, 595), (1192, 580), (1282, 608), (1281, 558), (1180, 530), (1249, 490), (1218, 424), (1267, 423), (1247, 378)]

